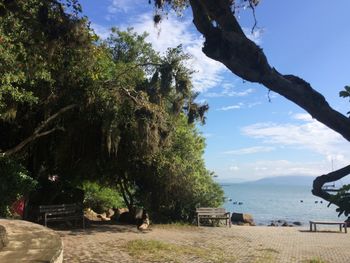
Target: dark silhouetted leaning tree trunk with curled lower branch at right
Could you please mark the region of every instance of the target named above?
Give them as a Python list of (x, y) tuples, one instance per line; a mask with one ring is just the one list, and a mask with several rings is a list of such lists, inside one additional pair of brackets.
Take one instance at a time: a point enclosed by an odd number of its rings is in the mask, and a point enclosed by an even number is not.
[[(249, 40), (235, 14), (235, 0), (155, 0), (156, 8), (171, 5), (175, 9), (189, 5), (193, 13), (193, 23), (203, 35), (205, 42), (202, 49), (208, 57), (224, 64), (232, 73), (244, 80), (264, 85), (288, 100), (299, 105), (310, 115), (350, 140), (350, 119), (330, 107), (324, 96), (314, 90), (305, 80), (294, 75), (281, 74), (270, 66), (263, 50)], [(243, 0), (254, 9), (258, 0)], [(155, 17), (155, 22), (159, 21)], [(350, 173), (350, 165), (318, 176), (313, 183), (312, 193), (336, 204), (341, 213), (350, 210), (342, 202), (322, 190), (327, 182), (337, 181)]]

